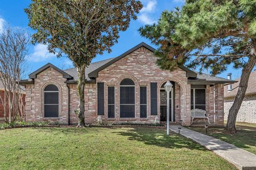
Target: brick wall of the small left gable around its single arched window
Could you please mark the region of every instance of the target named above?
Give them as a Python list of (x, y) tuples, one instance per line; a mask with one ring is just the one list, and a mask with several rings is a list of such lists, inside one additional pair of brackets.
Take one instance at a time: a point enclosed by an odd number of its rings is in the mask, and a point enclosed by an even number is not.
[[(27, 121), (49, 121), (68, 123), (68, 88), (66, 78), (63, 75), (49, 67), (43, 72), (37, 74), (34, 84), (26, 85), (26, 120)], [(59, 89), (59, 118), (44, 118), (44, 88), (54, 84)]]

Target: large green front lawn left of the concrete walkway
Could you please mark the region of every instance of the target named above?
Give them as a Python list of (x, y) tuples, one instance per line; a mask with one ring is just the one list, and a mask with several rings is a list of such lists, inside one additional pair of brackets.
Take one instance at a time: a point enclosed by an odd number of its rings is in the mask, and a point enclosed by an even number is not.
[(0, 169), (236, 169), (196, 143), (154, 128), (0, 131)]

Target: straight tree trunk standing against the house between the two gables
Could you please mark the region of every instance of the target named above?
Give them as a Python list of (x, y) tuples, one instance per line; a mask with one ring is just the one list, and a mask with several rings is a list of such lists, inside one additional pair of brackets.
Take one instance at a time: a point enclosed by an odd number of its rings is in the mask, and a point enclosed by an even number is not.
[(79, 105), (78, 105), (78, 125), (77, 127), (85, 127), (84, 122), (84, 86), (85, 86), (85, 65), (78, 67), (78, 85), (77, 85), (77, 94), (79, 96)]

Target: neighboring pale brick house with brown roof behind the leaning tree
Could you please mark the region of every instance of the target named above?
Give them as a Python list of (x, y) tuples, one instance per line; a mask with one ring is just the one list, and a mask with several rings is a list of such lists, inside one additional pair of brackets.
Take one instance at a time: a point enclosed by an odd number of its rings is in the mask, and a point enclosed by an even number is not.
[[(237, 90), (239, 87), (240, 78), (237, 79), (236, 81), (237, 82), (232, 84), (231, 87), (230, 86), (229, 88), (228, 86), (225, 87), (225, 94), (224, 94), (225, 120), (227, 120), (228, 111), (230, 107), (233, 105), (233, 102), (235, 100)], [(243, 103), (239, 109), (239, 112), (237, 114), (236, 121), (256, 123), (256, 71), (253, 71), (249, 77), (246, 94), (245, 94)]]

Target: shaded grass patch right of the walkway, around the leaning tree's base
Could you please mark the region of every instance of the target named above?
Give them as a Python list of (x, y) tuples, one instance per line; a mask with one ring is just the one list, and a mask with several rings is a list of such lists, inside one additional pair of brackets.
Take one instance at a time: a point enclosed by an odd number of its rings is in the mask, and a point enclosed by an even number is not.
[[(202, 127), (191, 127), (190, 129), (206, 134)], [(208, 128), (207, 135), (256, 154), (256, 124), (237, 122), (236, 129), (235, 134), (227, 134), (223, 132), (223, 128)]]

